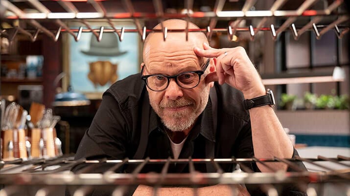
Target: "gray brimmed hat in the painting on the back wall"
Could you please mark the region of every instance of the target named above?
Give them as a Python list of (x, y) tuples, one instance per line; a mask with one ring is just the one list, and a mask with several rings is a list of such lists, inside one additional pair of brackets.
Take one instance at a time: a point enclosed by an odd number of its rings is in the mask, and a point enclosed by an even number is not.
[(104, 33), (100, 42), (92, 35), (90, 49), (81, 52), (85, 55), (104, 57), (116, 57), (127, 53), (127, 51), (119, 51), (118, 38), (115, 33)]

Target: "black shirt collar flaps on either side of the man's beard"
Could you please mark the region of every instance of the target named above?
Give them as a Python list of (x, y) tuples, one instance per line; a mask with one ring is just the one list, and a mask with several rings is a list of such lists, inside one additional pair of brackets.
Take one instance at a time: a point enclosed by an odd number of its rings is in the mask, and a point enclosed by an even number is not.
[[(151, 107), (151, 105), (149, 105)], [(215, 133), (216, 133), (216, 127), (214, 127), (213, 118), (217, 118), (216, 116), (213, 116), (212, 112), (212, 104), (211, 100), (209, 98), (208, 104), (206, 108), (204, 109), (202, 115), (200, 115), (200, 134), (207, 139), (209, 139), (212, 142), (215, 142)], [(150, 116), (149, 116), (149, 126), (148, 126), (148, 134), (151, 134), (154, 130), (161, 130), (162, 127), (162, 121), (157, 116), (156, 112), (153, 110), (153, 108), (150, 108)]]

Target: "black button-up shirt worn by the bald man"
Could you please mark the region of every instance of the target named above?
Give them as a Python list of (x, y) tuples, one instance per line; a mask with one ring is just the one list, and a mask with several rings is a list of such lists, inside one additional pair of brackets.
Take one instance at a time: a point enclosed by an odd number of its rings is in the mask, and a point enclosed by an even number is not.
[[(173, 157), (169, 138), (149, 104), (140, 76), (136, 74), (117, 81), (104, 93), (91, 127), (79, 145), (76, 159)], [(243, 100), (240, 91), (215, 83), (208, 104), (190, 131), (179, 158), (253, 157), (249, 112), (244, 109)], [(256, 164), (247, 166), (259, 172)], [(224, 172), (232, 172), (235, 165), (221, 167)], [(160, 169), (149, 165), (143, 172), (160, 172)], [(211, 164), (196, 164), (195, 169), (215, 172)], [(188, 172), (188, 164), (172, 164), (169, 172)]]

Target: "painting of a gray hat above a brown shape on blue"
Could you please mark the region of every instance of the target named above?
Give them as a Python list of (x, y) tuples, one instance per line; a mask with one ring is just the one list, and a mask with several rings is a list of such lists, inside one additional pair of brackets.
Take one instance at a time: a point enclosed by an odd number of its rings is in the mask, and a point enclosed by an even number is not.
[(79, 41), (70, 37), (70, 84), (74, 91), (102, 93), (115, 81), (138, 73), (139, 41), (137, 33), (125, 33), (121, 42), (116, 33), (103, 33), (99, 42), (92, 33), (82, 33)]

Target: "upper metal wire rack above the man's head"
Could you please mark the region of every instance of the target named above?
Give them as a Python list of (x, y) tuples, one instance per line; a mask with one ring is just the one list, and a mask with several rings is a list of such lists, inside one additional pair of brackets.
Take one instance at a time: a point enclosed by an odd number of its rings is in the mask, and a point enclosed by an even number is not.
[[(26, 13), (20, 9), (16, 4), (18, 1), (24, 1), (30, 8), (36, 9), (37, 13)], [(14, 15), (3, 14), (0, 16), (3, 20), (21, 20), (34, 29), (24, 29), (20, 26), (15, 26), (9, 29), (2, 29), (1, 34), (8, 36), (13, 39), (17, 33), (22, 33), (29, 37), (32, 41), (37, 39), (40, 32), (46, 34), (54, 41), (60, 36), (61, 32), (68, 32), (76, 41), (80, 39), (82, 32), (92, 32), (96, 39), (99, 41), (102, 39), (104, 32), (115, 32), (119, 36), (120, 41), (123, 40), (125, 32), (137, 32), (140, 34), (140, 38), (144, 40), (147, 33), (150, 32), (162, 32), (164, 39), (166, 39), (168, 32), (170, 31), (201, 31), (205, 32), (210, 39), (213, 33), (226, 32), (229, 39), (233, 38), (233, 35), (237, 31), (247, 31), (251, 35), (251, 39), (254, 39), (255, 35), (259, 31), (271, 31), (273, 39), (276, 39), (278, 35), (290, 29), (295, 39), (298, 39), (304, 32), (313, 30), (317, 38), (320, 38), (327, 31), (334, 29), (338, 38), (342, 38), (345, 33), (349, 31), (348, 26), (341, 25), (342, 23), (349, 20), (349, 16), (346, 15), (346, 11), (338, 11), (338, 8), (342, 6), (343, 0), (334, 0), (329, 5), (325, 6), (324, 9), (313, 9), (313, 5), (317, 0), (305, 0), (299, 5), (296, 10), (280, 10), (280, 8), (288, 0), (276, 0), (269, 10), (251, 10), (257, 3), (257, 0), (246, 0), (240, 11), (223, 11), (225, 5), (228, 2), (226, 0), (216, 0), (213, 5), (212, 11), (192, 11), (193, 0), (185, 0), (184, 10), (185, 13), (164, 13), (162, 0), (153, 0), (149, 3), (153, 3), (154, 12), (138, 12), (131, 0), (122, 0), (122, 4), (127, 12), (111, 12), (106, 9), (108, 1), (103, 2), (99, 0), (87, 0), (93, 8), (94, 12), (86, 12), (79, 10), (72, 2), (66, 0), (58, 0), (57, 6), (61, 6), (66, 12), (51, 12), (50, 9), (45, 6), (47, 1), (39, 0), (16, 0), (11, 2), (9, 0), (1, 0), (0, 4), (6, 10), (11, 11)], [(3, 12), (5, 13), (5, 12)], [(192, 19), (205, 19), (210, 20), (207, 28), (203, 29), (189, 29), (188, 25), (185, 29), (169, 30), (166, 26), (162, 25), (161, 30), (147, 29), (145, 26), (142, 27), (142, 21), (145, 20), (158, 20), (162, 23), (165, 19), (180, 18), (190, 21)], [(303, 26), (297, 26), (295, 23), (299, 19), (308, 18), (308, 22), (305, 22)], [(329, 22), (329, 18), (332, 22)], [(239, 24), (244, 19), (259, 19), (256, 26), (252, 24), (245, 27), (241, 27)], [(268, 24), (269, 19), (284, 19), (284, 22), (276, 27), (274, 24)], [(98, 20), (107, 23), (107, 26), (100, 26), (98, 29), (93, 29), (90, 22)], [(136, 29), (117, 29), (115, 25), (120, 20), (133, 20)], [(227, 20), (227, 28), (216, 28), (218, 20)], [(323, 21), (325, 20), (325, 21)], [(45, 27), (41, 22), (47, 22), (56, 26), (55, 29)], [(70, 29), (70, 22), (78, 22), (82, 26), (78, 29)], [(188, 23), (187, 23), (188, 24)]]

